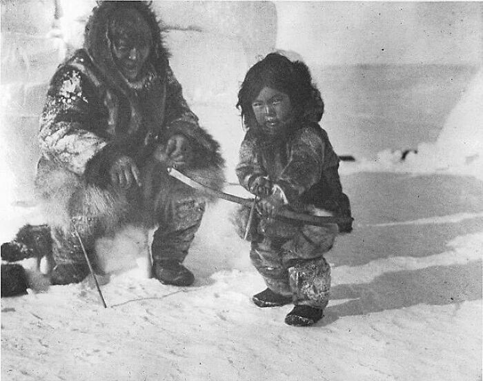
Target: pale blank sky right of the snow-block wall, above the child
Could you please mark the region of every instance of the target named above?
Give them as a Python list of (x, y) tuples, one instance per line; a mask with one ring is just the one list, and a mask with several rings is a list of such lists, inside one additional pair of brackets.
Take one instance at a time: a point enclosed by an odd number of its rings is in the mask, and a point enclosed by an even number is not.
[[(481, 2), (276, 1), (277, 48), (319, 64), (478, 64)], [(384, 49), (384, 50), (383, 50)]]

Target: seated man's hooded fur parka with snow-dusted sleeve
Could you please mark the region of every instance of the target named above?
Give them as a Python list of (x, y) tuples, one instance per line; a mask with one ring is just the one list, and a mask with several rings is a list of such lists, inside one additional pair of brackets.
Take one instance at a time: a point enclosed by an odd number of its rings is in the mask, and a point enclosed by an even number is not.
[[(117, 70), (108, 39), (110, 16), (119, 6), (136, 8), (152, 30), (146, 75), (134, 84)], [(144, 1), (103, 1), (86, 25), (84, 47), (52, 77), (40, 118), (36, 183), (50, 224), (68, 228), (72, 217), (84, 215), (99, 219), (109, 231), (132, 218), (141, 205), (109, 188), (111, 164), (128, 155), (146, 168), (155, 146), (175, 134), (187, 137), (193, 149), (186, 173), (220, 188), (224, 160), (219, 144), (186, 104), (155, 14)], [(153, 179), (143, 182), (144, 191), (152, 190), (146, 188)]]

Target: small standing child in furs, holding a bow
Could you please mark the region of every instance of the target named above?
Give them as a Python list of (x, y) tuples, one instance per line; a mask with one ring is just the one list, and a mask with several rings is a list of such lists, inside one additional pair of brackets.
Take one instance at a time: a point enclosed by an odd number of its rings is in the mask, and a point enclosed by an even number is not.
[[(259, 307), (293, 302), (286, 324), (312, 325), (328, 304), (331, 267), (324, 253), (333, 246), (337, 225), (273, 217), (281, 208), (351, 215), (337, 172), (339, 158), (317, 124), (324, 104), (305, 64), (272, 53), (248, 70), (237, 107), (248, 131), (236, 173), (257, 197), (260, 213), (252, 222), (250, 259), (268, 286), (253, 302)], [(351, 224), (339, 229), (351, 231)]]

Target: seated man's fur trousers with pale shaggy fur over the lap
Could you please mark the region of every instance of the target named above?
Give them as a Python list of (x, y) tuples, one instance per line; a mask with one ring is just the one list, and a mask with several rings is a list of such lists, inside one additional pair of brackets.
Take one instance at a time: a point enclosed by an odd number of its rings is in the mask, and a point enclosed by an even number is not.
[[(56, 269), (61, 271), (61, 267), (70, 268), (71, 273), (78, 274), (75, 282), (81, 280), (77, 277), (88, 274), (79, 237), (95, 267), (96, 240), (115, 235), (128, 224), (142, 228), (157, 226), (152, 242), (153, 262), (182, 262), (207, 202), (206, 197), (170, 177), (166, 168), (154, 162), (141, 168), (142, 186), (134, 185), (127, 190), (85, 185), (65, 170), (45, 172), (54, 180), (41, 182), (48, 201), (46, 215), (52, 215), (49, 226), (55, 261), (53, 273), (56, 274)], [(63, 283), (61, 278), (66, 276), (59, 273), (59, 282)]]

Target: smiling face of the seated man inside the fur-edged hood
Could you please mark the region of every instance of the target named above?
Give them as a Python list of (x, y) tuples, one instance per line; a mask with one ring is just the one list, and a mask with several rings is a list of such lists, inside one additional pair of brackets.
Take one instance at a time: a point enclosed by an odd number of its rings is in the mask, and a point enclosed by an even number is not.
[(134, 81), (141, 74), (150, 50), (150, 40), (132, 41), (127, 36), (121, 36), (114, 41), (112, 55), (122, 75), (129, 81)]

